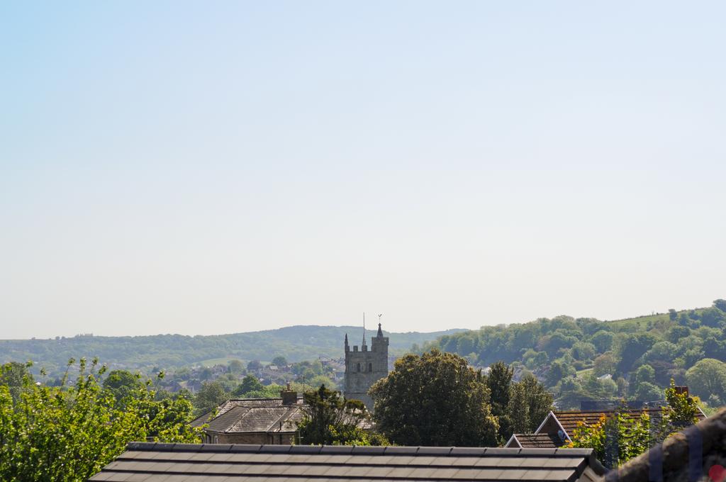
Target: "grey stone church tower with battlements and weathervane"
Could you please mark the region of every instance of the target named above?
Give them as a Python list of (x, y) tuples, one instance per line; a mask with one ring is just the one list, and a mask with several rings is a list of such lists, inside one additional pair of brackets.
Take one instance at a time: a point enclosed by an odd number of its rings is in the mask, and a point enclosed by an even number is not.
[(388, 337), (383, 336), (380, 323), (378, 323), (378, 334), (370, 340), (370, 351), (365, 343), (365, 329), (360, 350), (354, 346), (351, 351), (346, 333), (346, 380), (343, 392), (346, 399), (361, 400), (372, 411), (373, 401), (368, 396), (368, 389), (387, 375)]

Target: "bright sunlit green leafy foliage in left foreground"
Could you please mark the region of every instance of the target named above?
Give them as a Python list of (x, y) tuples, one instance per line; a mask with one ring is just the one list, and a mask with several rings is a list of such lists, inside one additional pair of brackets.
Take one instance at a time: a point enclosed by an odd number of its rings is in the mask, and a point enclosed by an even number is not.
[(81, 359), (73, 384), (49, 387), (25, 377), (17, 401), (8, 385), (0, 385), (0, 480), (85, 481), (130, 441), (200, 440), (199, 430), (188, 425), (188, 400), (155, 401), (142, 385), (118, 409), (113, 393), (98, 383), (104, 372), (96, 359), (90, 367)]

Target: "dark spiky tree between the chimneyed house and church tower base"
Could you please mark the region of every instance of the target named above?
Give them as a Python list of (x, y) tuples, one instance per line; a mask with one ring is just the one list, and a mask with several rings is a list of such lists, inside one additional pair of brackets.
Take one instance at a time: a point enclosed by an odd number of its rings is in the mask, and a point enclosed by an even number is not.
[[(303, 395), (303, 420), (295, 434), (297, 444), (309, 445), (378, 445), (380, 437), (362, 429), (369, 414), (360, 400), (346, 400), (337, 391), (320, 385)], [(384, 442), (385, 443), (385, 442)]]

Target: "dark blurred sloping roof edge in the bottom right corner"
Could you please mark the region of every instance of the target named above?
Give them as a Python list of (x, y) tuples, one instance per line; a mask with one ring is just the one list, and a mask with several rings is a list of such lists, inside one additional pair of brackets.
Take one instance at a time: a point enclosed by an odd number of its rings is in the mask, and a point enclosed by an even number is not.
[(677, 433), (605, 475), (607, 482), (723, 481), (726, 409)]

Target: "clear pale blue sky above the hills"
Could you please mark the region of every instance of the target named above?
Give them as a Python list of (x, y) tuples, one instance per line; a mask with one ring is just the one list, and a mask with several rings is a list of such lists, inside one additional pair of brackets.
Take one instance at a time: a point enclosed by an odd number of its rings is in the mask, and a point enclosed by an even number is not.
[(0, 4), (0, 338), (726, 298), (726, 4)]

